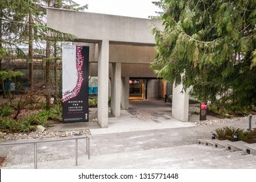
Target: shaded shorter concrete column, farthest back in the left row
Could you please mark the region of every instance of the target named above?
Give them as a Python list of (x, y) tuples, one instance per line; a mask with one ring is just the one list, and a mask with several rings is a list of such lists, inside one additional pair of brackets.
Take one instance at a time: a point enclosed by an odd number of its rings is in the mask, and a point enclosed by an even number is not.
[(129, 77), (121, 78), (121, 109), (129, 109)]

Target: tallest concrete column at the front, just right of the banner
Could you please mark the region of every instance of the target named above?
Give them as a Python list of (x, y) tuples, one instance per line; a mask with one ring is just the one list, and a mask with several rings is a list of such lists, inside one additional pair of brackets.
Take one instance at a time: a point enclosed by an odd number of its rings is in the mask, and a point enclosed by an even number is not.
[(98, 123), (108, 127), (108, 62), (109, 41), (99, 42), (98, 62)]

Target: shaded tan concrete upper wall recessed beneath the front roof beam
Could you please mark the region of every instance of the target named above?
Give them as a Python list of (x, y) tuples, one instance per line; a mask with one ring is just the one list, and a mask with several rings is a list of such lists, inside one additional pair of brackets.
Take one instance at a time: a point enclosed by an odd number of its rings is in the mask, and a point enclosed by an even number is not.
[[(89, 46), (89, 75), (97, 77), (98, 44), (74, 42), (74, 45)], [(121, 77), (157, 77), (150, 69), (155, 51), (150, 46), (110, 44), (109, 62), (121, 62)], [(109, 77), (111, 77), (109, 66)]]

